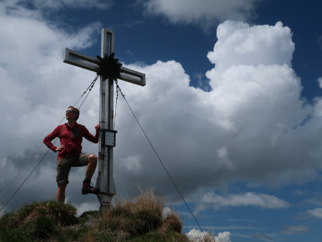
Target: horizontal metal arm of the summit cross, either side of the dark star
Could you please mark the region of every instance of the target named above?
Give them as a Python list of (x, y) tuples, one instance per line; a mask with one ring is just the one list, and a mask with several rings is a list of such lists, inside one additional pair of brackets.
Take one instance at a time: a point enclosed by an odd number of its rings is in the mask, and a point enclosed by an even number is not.
[[(65, 49), (64, 63), (84, 68), (92, 72), (98, 72), (100, 67), (100, 61), (87, 54), (79, 53), (74, 50)], [(121, 67), (121, 78), (120, 80), (130, 82), (136, 85), (145, 86), (145, 74), (133, 71), (131, 69)]]

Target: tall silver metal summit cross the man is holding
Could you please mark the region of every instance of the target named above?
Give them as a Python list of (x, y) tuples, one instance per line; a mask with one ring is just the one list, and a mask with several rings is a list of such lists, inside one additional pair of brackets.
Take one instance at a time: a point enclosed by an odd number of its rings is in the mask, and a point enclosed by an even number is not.
[[(101, 57), (114, 52), (114, 31), (103, 28), (101, 40)], [(65, 49), (64, 63), (81, 67), (93, 72), (99, 70), (100, 61), (90, 55), (79, 53), (71, 49)], [(145, 74), (121, 67), (120, 80), (136, 85), (145, 86)], [(99, 139), (99, 167), (96, 188), (100, 189), (97, 195), (100, 201), (100, 210), (110, 208), (113, 196), (116, 194), (113, 178), (113, 147), (115, 147), (115, 133), (113, 130), (113, 98), (114, 80), (100, 79), (100, 125), (101, 137)]]

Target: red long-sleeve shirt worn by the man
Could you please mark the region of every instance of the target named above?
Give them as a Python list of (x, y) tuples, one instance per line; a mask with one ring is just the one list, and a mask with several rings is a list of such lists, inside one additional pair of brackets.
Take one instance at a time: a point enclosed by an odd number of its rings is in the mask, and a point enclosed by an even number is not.
[(76, 155), (82, 153), (83, 137), (93, 143), (99, 142), (99, 132), (97, 131), (93, 136), (84, 125), (76, 123), (75, 126), (70, 128), (67, 124), (57, 126), (53, 132), (45, 137), (44, 144), (56, 152), (57, 147), (54, 146), (51, 141), (59, 137), (60, 145), (64, 145), (65, 148), (57, 155), (57, 159)]

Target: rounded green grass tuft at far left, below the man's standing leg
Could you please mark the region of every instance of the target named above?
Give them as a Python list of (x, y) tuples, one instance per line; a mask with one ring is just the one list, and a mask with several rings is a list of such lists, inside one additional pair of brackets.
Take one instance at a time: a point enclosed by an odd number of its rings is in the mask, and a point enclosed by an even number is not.
[(77, 223), (75, 214), (73, 205), (52, 200), (25, 205), (0, 218), (0, 242), (49, 239), (59, 226)]

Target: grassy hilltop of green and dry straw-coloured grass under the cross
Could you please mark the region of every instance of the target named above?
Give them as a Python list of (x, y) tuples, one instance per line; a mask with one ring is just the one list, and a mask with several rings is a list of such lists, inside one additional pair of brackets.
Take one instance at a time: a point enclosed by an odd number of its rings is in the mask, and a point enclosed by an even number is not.
[(88, 211), (79, 218), (71, 204), (34, 202), (0, 218), (0, 242), (191, 242), (178, 214), (165, 216), (164, 210), (164, 200), (152, 189), (140, 189), (136, 199), (115, 199), (109, 210)]

